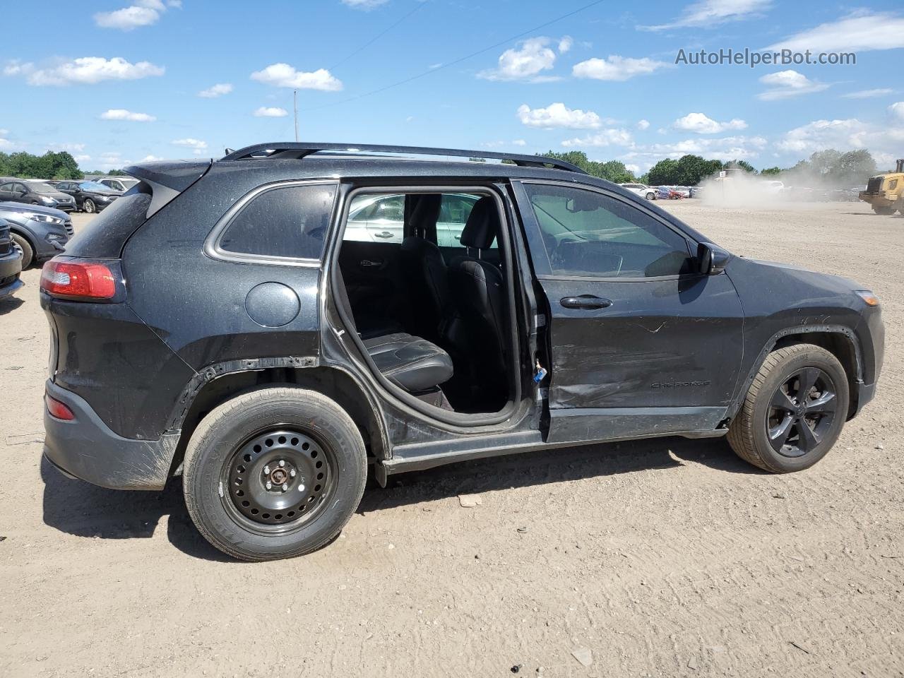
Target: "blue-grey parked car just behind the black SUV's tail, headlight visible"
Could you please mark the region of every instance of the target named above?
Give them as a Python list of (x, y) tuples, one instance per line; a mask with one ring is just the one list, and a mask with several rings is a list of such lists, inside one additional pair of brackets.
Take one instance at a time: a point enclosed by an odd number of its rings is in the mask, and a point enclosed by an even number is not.
[(16, 246), (22, 250), (22, 268), (60, 254), (72, 237), (69, 214), (51, 207), (0, 202), (0, 218), (9, 222)]

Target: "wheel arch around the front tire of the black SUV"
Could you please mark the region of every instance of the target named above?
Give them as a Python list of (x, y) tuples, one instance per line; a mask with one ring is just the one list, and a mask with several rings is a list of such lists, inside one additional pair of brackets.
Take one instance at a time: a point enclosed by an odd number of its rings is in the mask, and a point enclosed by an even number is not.
[(862, 383), (863, 358), (857, 335), (845, 325), (800, 325), (787, 327), (773, 334), (759, 352), (747, 379), (740, 384), (739, 392), (730, 408), (730, 417), (733, 418), (743, 404), (750, 384), (766, 361), (767, 355), (778, 348), (785, 348), (793, 344), (814, 344), (832, 353), (838, 362), (842, 363), (844, 373), (848, 378), (848, 390), (851, 394), (847, 412), (847, 419), (851, 419), (857, 412), (859, 385)]

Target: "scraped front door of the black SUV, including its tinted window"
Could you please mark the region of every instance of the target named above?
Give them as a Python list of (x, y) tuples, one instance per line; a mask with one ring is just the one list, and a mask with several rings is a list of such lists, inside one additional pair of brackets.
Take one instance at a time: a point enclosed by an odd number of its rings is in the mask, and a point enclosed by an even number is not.
[(728, 276), (695, 273), (687, 237), (615, 193), (516, 191), (551, 311), (549, 441), (717, 428), (742, 347)]

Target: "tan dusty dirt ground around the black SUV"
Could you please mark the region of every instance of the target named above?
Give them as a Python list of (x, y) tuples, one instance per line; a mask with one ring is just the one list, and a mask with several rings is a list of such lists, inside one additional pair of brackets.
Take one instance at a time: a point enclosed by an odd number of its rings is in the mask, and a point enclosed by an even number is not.
[(333, 544), (272, 563), (202, 541), (179, 482), (111, 492), (42, 465), (27, 271), (0, 302), (0, 675), (904, 675), (904, 218), (665, 207), (881, 298), (879, 395), (828, 457), (770, 476), (668, 438), (447, 466), (369, 486)]

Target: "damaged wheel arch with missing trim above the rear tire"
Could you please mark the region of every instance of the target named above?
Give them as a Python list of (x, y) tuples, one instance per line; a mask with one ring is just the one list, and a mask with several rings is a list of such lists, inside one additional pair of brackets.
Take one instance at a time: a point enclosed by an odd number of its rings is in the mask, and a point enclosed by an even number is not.
[(179, 435), (170, 464), (170, 476), (182, 465), (185, 447), (195, 428), (211, 410), (242, 393), (265, 387), (307, 389), (335, 400), (361, 431), (368, 456), (389, 458), (389, 439), (382, 426), (381, 411), (363, 387), (349, 372), (338, 367), (317, 364), (294, 366), (307, 360), (309, 359), (267, 359), (268, 363), (287, 364), (262, 368), (248, 365), (255, 361), (236, 361), (205, 368), (186, 386), (167, 425), (166, 433)]

